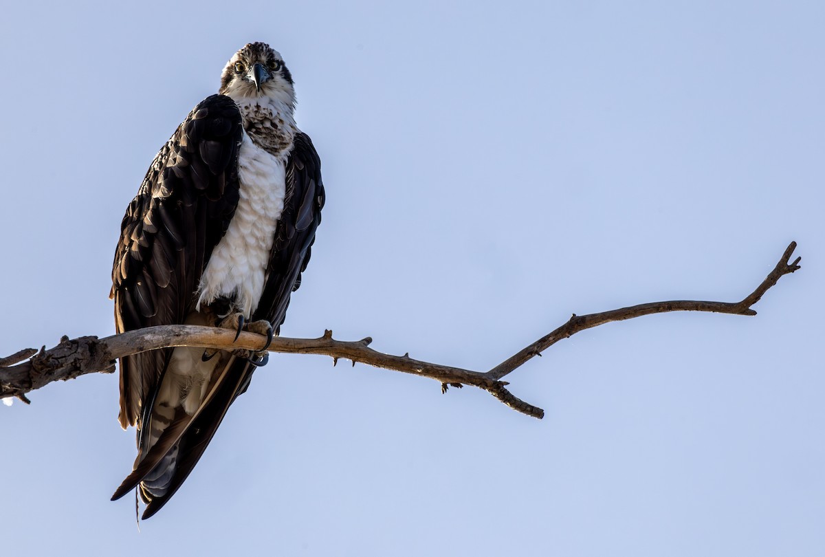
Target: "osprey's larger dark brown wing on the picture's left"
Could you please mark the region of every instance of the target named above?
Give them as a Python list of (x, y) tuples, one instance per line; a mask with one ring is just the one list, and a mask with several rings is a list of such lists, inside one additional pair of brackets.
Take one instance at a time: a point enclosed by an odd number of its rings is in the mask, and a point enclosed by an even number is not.
[[(183, 323), (210, 253), (238, 205), (243, 125), (229, 97), (200, 102), (160, 150), (126, 210), (112, 269), (118, 333)], [(120, 425), (140, 421), (171, 349), (120, 361)]]

